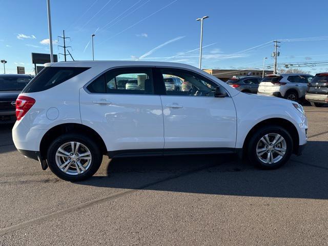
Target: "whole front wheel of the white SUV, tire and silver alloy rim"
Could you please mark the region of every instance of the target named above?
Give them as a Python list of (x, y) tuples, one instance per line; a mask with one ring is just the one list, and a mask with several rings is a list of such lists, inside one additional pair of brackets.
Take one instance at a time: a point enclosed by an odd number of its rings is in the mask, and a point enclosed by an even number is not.
[(267, 126), (251, 137), (248, 157), (262, 169), (276, 169), (289, 160), (293, 152), (291, 135), (280, 126)]

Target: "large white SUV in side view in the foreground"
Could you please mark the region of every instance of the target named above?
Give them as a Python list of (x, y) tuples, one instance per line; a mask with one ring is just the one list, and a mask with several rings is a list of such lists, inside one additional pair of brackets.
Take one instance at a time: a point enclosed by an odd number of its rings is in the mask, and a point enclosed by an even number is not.
[[(190, 89), (167, 90), (163, 74)], [(123, 80), (138, 87), (117, 86)], [(103, 155), (238, 153), (274, 169), (301, 153), (308, 129), (297, 103), (240, 93), (189, 65), (144, 61), (46, 64), (18, 96), (16, 116), (18, 151), (70, 181), (93, 175)]]

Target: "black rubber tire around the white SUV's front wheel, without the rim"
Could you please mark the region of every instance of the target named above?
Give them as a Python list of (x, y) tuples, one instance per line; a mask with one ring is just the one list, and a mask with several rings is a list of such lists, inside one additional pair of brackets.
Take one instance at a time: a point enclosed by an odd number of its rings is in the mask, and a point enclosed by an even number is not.
[[(281, 135), (285, 139), (285, 142), (286, 142), (286, 151), (285, 151), (284, 156), (276, 163), (271, 163), (271, 164), (262, 162), (256, 153), (256, 147), (257, 147), (257, 144), (260, 141), (260, 139), (264, 135), (270, 134), (270, 133), (277, 133), (277, 134)], [(248, 145), (246, 145), (248, 147), (247, 155), (248, 155), (248, 158), (251, 161), (251, 163), (255, 164), (257, 167), (259, 167), (261, 169), (266, 169), (266, 170), (277, 169), (277, 168), (281, 167), (282, 165), (284, 165), (284, 163), (286, 163), (290, 159), (292, 152), (293, 152), (293, 139), (292, 139), (291, 135), (283, 127), (275, 126), (275, 125), (265, 126), (265, 127), (258, 129), (253, 134), (253, 136), (250, 138), (249, 142), (246, 144), (248, 144)]]

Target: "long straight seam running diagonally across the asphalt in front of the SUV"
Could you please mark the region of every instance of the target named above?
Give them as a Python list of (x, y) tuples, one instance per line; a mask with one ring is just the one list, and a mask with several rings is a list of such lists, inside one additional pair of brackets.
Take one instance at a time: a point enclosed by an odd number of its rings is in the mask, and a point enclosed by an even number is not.
[(5, 234), (8, 234), (8, 233), (13, 232), (13, 231), (17, 231), (19, 229), (27, 228), (29, 226), (32, 226), (33, 224), (39, 224), (39, 223), (42, 223), (46, 220), (54, 219), (54, 218), (61, 217), (63, 215), (66, 215), (66, 214), (69, 214), (69, 213), (72, 213), (72, 212), (76, 212), (76, 211), (81, 210), (81, 209), (92, 207), (92, 206), (94, 206), (96, 204), (99, 204), (99, 203), (102, 203), (102, 202), (115, 200), (119, 197), (135, 193), (139, 190), (144, 190), (144, 189), (149, 188), (151, 186), (157, 185), (158, 183), (161, 183), (161, 182), (165, 182), (165, 181), (173, 180), (173, 179), (176, 179), (176, 178), (184, 177), (184, 176), (187, 176), (187, 175), (190, 175), (190, 174), (193, 174), (193, 173), (196, 173), (196, 172), (200, 172), (200, 171), (206, 170), (208, 168), (213, 168), (213, 167), (216, 167), (218, 165), (226, 164), (226, 163), (229, 163), (229, 160), (222, 161), (220, 163), (216, 163), (214, 165), (209, 165), (209, 166), (206, 166), (206, 167), (195, 168), (195, 169), (192, 169), (192, 170), (190, 170), (188, 172), (185, 172), (185, 173), (182, 173), (182, 174), (172, 175), (172, 176), (169, 176), (169, 177), (166, 177), (166, 178), (163, 178), (163, 179), (159, 179), (159, 180), (151, 182), (151, 183), (147, 183), (146, 185), (140, 186), (140, 187), (135, 188), (135, 189), (128, 189), (128, 190), (116, 192), (114, 194), (111, 194), (111, 195), (103, 197), (103, 198), (98, 198), (98, 199), (95, 199), (95, 200), (91, 200), (91, 201), (79, 204), (77, 206), (74, 206), (74, 207), (71, 207), (71, 208), (68, 208), (68, 209), (60, 210), (60, 211), (57, 211), (57, 212), (54, 212), (54, 213), (51, 213), (51, 214), (47, 214), (47, 215), (43, 215), (43, 216), (31, 219), (31, 220), (27, 220), (27, 221), (24, 221), (22, 223), (15, 224), (14, 226), (10, 226), (10, 227), (0, 229), (0, 236), (3, 236)]

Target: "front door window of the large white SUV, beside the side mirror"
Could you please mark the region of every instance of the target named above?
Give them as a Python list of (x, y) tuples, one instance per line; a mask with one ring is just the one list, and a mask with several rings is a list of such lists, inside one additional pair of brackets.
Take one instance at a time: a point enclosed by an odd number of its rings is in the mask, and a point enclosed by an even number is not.
[[(180, 69), (161, 69), (167, 95), (214, 96), (216, 85), (213, 81), (190, 71)], [(175, 79), (182, 81), (181, 86), (174, 84)]]

